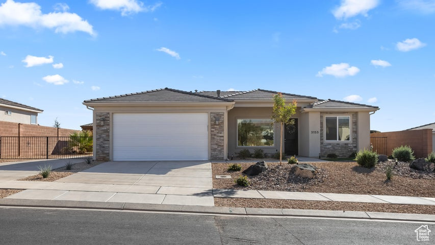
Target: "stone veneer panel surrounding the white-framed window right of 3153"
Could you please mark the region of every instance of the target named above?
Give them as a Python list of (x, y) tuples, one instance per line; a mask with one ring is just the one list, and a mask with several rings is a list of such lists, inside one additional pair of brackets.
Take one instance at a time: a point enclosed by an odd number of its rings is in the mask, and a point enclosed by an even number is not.
[[(325, 143), (323, 141), (323, 118), (328, 114), (351, 115), (352, 118), (352, 143)], [(329, 153), (335, 153), (338, 157), (349, 157), (356, 148), (356, 113), (320, 113), (320, 156), (326, 157)]]

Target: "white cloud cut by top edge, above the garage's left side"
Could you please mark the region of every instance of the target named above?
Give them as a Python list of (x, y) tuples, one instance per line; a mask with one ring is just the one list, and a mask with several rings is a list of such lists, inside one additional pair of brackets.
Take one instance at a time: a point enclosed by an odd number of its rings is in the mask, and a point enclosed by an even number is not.
[(144, 6), (142, 2), (137, 0), (90, 0), (90, 2), (99, 9), (121, 11), (122, 16), (139, 12), (153, 12), (162, 5), (162, 3), (157, 2), (154, 5)]

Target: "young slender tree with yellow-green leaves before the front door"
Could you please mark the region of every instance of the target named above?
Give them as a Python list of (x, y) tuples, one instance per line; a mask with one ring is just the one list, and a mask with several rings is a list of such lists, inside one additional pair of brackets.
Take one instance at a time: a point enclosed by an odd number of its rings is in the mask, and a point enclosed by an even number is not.
[(291, 124), (294, 120), (290, 118), (296, 113), (297, 103), (293, 100), (291, 104), (286, 106), (286, 100), (282, 93), (273, 95), (273, 110), (271, 119), (273, 122), (281, 126), (281, 134), (279, 137), (279, 164), (283, 164), (283, 133), (284, 124)]

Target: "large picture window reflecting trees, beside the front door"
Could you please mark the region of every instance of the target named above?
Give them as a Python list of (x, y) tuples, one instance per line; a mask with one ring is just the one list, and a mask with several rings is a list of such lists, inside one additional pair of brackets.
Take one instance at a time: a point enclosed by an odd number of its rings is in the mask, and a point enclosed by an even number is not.
[(238, 146), (273, 146), (271, 119), (237, 119)]

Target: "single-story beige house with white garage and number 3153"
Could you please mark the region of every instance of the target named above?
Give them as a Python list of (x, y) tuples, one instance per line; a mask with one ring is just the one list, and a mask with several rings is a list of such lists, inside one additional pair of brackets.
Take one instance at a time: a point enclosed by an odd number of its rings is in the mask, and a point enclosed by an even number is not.
[[(87, 100), (93, 108), (98, 160), (226, 159), (242, 149), (279, 151), (270, 116), (275, 91), (187, 92), (170, 88)], [(370, 146), (370, 114), (378, 107), (283, 93), (297, 101), (286, 127), (287, 155), (348, 157)]]

